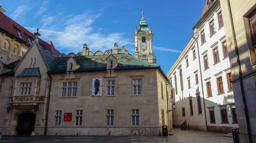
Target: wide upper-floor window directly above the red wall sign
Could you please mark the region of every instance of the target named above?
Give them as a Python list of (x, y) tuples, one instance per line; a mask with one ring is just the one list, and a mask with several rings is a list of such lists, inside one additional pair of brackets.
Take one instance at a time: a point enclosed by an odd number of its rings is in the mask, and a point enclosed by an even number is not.
[(62, 97), (76, 96), (77, 93), (77, 82), (62, 82)]

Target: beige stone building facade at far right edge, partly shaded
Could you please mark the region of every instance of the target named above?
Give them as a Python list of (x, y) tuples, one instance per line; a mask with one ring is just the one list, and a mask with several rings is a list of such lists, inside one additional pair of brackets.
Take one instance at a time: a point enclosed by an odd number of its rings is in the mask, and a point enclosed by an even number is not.
[(240, 143), (255, 143), (256, 0), (221, 0), (221, 7), (233, 76), (239, 140)]

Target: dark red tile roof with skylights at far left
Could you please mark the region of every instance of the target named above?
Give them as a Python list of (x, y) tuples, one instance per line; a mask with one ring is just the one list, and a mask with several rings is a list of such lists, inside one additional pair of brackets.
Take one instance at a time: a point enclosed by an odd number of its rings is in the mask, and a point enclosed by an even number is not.
[[(17, 34), (17, 29), (20, 31), (22, 39), (19, 38)], [(5, 14), (0, 12), (0, 30), (6, 32), (6, 35), (9, 35), (17, 41), (24, 43), (27, 46), (30, 46), (29, 41), (27, 37), (29, 36), (31, 39), (35, 39), (35, 35), (29, 32), (26, 28), (19, 25), (17, 22), (12, 20), (11, 18), (7, 17)], [(52, 41), (44, 41), (40, 38), (38, 38), (38, 42), (42, 45), (42, 48), (44, 50), (49, 50), (52, 54), (56, 54), (57, 56), (60, 54), (60, 52), (55, 49), (54, 45), (52, 44)]]

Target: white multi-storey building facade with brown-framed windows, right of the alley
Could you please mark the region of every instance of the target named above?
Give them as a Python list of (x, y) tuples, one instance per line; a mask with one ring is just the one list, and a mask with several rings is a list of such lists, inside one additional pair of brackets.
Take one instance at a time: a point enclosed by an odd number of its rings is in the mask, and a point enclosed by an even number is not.
[(232, 74), (219, 0), (207, 0), (195, 33), (170, 69), (173, 125), (230, 133), (238, 127)]

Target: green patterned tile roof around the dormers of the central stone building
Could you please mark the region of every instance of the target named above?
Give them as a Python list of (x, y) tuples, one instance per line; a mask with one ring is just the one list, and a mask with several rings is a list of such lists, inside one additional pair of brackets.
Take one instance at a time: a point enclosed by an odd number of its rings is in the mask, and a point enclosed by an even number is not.
[[(91, 70), (106, 70), (107, 69), (107, 58), (109, 55), (96, 55), (96, 56), (74, 56), (81, 67), (79, 67), (77, 72), (79, 71), (91, 71)], [(116, 57), (116, 61), (118, 63), (115, 69), (127, 69), (127, 68), (145, 68), (145, 67), (156, 67), (155, 65), (148, 64), (146, 62), (141, 61), (140, 59), (131, 56), (130, 54), (122, 53), (122, 54), (113, 54)], [(67, 71), (67, 63), (66, 61), (70, 57), (61, 57), (55, 58), (52, 60), (51, 67), (52, 73), (58, 72), (66, 72)]]

